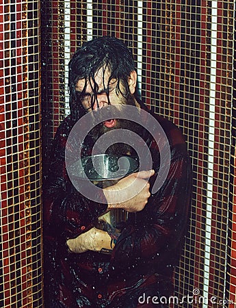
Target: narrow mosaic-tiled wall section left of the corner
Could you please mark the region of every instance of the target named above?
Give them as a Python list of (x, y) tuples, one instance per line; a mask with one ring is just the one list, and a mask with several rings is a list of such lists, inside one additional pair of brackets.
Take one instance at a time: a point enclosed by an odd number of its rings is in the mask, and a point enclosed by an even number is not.
[(42, 307), (40, 3), (0, 4), (0, 307)]

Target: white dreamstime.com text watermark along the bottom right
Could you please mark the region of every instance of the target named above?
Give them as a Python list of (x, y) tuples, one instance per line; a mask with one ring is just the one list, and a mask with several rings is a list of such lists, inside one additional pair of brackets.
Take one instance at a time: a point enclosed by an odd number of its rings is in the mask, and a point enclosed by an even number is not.
[(211, 296), (210, 298), (205, 298), (204, 296), (200, 295), (199, 289), (194, 289), (192, 291), (192, 294), (187, 294), (186, 296), (146, 296), (144, 293), (142, 296), (138, 298), (139, 304), (153, 304), (153, 305), (159, 305), (159, 304), (205, 304), (205, 305), (233, 305), (235, 304), (233, 300), (230, 299), (218, 299), (216, 296)]

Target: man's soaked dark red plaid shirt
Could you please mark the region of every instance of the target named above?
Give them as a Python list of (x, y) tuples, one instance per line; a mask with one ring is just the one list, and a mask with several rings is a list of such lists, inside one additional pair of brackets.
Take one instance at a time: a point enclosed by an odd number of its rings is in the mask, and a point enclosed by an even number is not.
[[(144, 105), (142, 108), (148, 111)], [(143, 294), (170, 296), (172, 272), (188, 220), (192, 168), (179, 129), (160, 116), (155, 118), (170, 144), (168, 177), (142, 211), (129, 214), (112, 255), (68, 252), (66, 240), (94, 227), (94, 220), (107, 205), (88, 200), (70, 183), (64, 151), (75, 123), (68, 116), (57, 129), (44, 184), (45, 307), (146, 307), (142, 301), (138, 303)], [(153, 168), (158, 170), (157, 144), (149, 135), (143, 138), (153, 157)], [(157, 173), (150, 179), (151, 187)]]

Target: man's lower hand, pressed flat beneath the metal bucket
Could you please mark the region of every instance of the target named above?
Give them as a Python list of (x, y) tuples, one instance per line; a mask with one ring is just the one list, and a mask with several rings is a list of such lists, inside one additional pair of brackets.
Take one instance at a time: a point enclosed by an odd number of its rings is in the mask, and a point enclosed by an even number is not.
[(112, 239), (109, 234), (103, 230), (93, 227), (89, 231), (82, 233), (77, 238), (67, 240), (66, 244), (72, 253), (85, 253), (86, 251), (101, 251), (102, 248), (112, 250)]

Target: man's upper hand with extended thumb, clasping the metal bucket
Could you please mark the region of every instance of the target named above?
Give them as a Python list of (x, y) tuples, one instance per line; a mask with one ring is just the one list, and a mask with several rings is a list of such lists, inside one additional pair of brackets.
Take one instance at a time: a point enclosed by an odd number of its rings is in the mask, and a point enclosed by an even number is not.
[(107, 199), (107, 209), (125, 209), (129, 212), (142, 211), (150, 197), (149, 177), (154, 170), (135, 172), (121, 179), (115, 185), (103, 188)]

